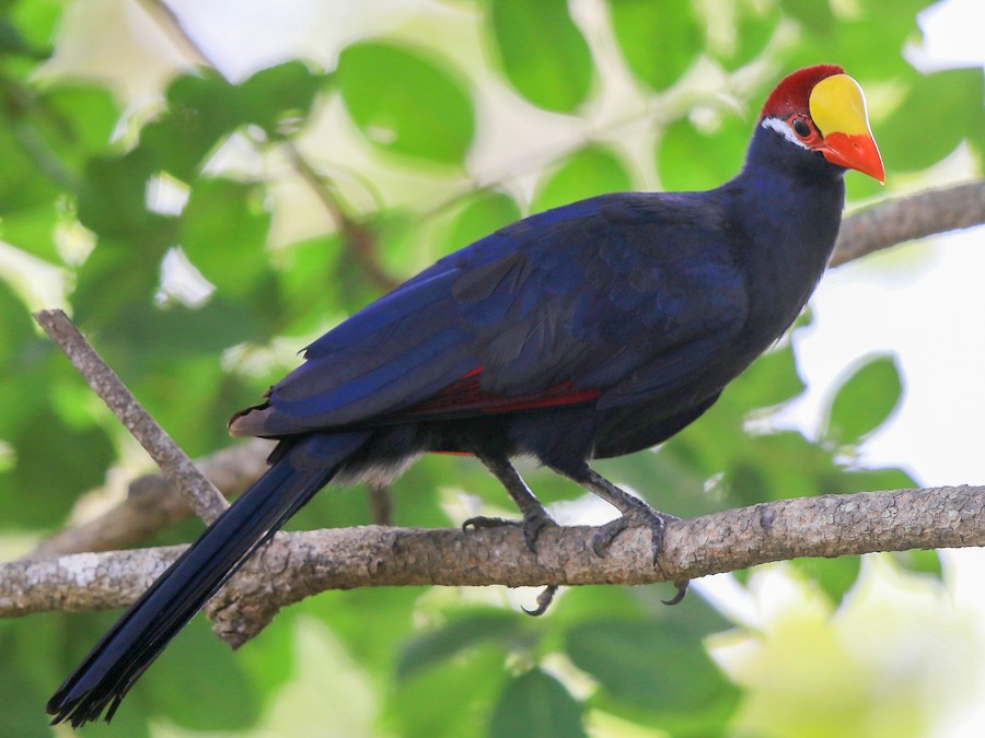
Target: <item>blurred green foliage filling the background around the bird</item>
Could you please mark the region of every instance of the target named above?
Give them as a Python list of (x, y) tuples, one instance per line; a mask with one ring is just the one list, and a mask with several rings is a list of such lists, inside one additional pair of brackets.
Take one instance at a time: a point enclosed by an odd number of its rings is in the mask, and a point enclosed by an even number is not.
[[(864, 86), (891, 91), (880, 97), (885, 106), (871, 112), (890, 178), (935, 164), (962, 141), (980, 164), (985, 155), (982, 70), (923, 75), (902, 57), (904, 44), (917, 36), (915, 13), (928, 4), (924, 0), (896, 3), (891, 13), (859, 0), (850, 17), (815, 1), (612, 0), (600, 33), (611, 32), (615, 56), (641, 95), (665, 95), (652, 155), (630, 166), (604, 131), (586, 125), (581, 145), (536, 165), (528, 202), (508, 178), (484, 186), (475, 184), (486, 181), (482, 176), (463, 178), (482, 175), (471, 172), (468, 160), (484, 126), (478, 75), (542, 113), (590, 119), (604, 91), (586, 21), (572, 19), (564, 0), (449, 4), (478, 19), (480, 70), (459, 65), (438, 43), (356, 38), (335, 69), (290, 60), (237, 83), (210, 70), (181, 74), (141, 118), (99, 82), (37, 81), (62, 5), (5, 3), (0, 237), (60, 276), (65, 306), (189, 453), (229, 443), (224, 419), (291, 366), (289, 353), (267, 351), (276, 339), (291, 337), (300, 348), (380, 294), (380, 276), (368, 263), (376, 260), (376, 268), (406, 278), (414, 271), (408, 265), (422, 266), (421, 254), (448, 253), (528, 212), (641, 188), (647, 172), (668, 188), (715, 186), (741, 164), (765, 93), (796, 67), (837, 61)], [(712, 7), (727, 13), (727, 23), (708, 23)], [(699, 68), (726, 75), (758, 62), (774, 71), (748, 75), (756, 84), (745, 84), (741, 96), (687, 91), (686, 80)], [(333, 125), (357, 137), (362, 156), (385, 172), (428, 178), (453, 196), (408, 210), (376, 194), (367, 207), (371, 184), (318, 161), (314, 168), (323, 178), (308, 186), (323, 187), (320, 195), (327, 194), (337, 212), (325, 213), (322, 233), (274, 244), (274, 189), (282, 171), (222, 168), (213, 164), (217, 154), (245, 142), (274, 156), (337, 103), (344, 114)], [(637, 115), (646, 122), (651, 113)], [(849, 192), (871, 195), (859, 179), (850, 179)], [(344, 180), (363, 188), (361, 199)], [(183, 295), (169, 281), (166, 265), (174, 259), (208, 282), (201, 294)], [(39, 536), (61, 526), (79, 495), (102, 483), (125, 442), (33, 328), (30, 280), (9, 268), (0, 277), (0, 534)], [(902, 384), (891, 358), (869, 361), (844, 383), (818, 442), (750, 423), (768, 420), (802, 388), (792, 352), (781, 343), (659, 453), (600, 469), (680, 515), (912, 483), (901, 470), (851, 461), (899, 401)], [(572, 494), (552, 475), (532, 471), (530, 479), (547, 501)], [(439, 501), (450, 487), (506, 504), (479, 465), (429, 458), (395, 487), (397, 522), (448, 525)], [(297, 525), (363, 522), (362, 499), (337, 492), (320, 495)], [(194, 529), (188, 524), (189, 536)], [(920, 571), (937, 566), (932, 555), (905, 562)], [(835, 602), (858, 569), (853, 560), (797, 565)], [(532, 621), (453, 591), (327, 593), (286, 611), (236, 656), (202, 622), (194, 623), (134, 689), (114, 724), (82, 735), (150, 735), (162, 722), (245, 731), (300, 668), (292, 623), (301, 614), (324, 622), (358, 665), (372, 686), (376, 729), (385, 735), (581, 736), (594, 713), (641, 731), (711, 736), (727, 733), (740, 696), (702, 645), (727, 623), (696, 596), (668, 610), (652, 588), (582, 588)], [(48, 694), (111, 620), (53, 613), (0, 622), (0, 733), (49, 735), (43, 715)], [(347, 696), (321, 699), (341, 705)]]

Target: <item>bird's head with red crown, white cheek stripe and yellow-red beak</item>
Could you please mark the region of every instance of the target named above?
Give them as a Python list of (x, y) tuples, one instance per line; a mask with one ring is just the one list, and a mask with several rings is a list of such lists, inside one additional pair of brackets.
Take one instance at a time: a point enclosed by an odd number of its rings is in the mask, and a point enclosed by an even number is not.
[(785, 77), (766, 99), (760, 125), (832, 164), (885, 181), (866, 96), (841, 67), (818, 65)]

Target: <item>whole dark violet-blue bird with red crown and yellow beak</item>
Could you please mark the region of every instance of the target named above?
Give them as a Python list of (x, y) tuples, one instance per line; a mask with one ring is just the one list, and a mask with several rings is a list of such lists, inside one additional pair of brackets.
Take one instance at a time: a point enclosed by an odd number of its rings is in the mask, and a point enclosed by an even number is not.
[[(308, 347), (237, 413), (278, 438), (270, 469), (143, 594), (48, 703), (108, 721), (171, 639), (329, 481), (390, 479), (426, 452), (473, 454), (523, 513), (553, 520), (510, 464), (530, 456), (617, 507), (595, 550), (665, 516), (588, 461), (665, 441), (790, 326), (827, 263), (843, 175), (880, 181), (861, 89), (839, 67), (783, 80), (742, 172), (707, 192), (604, 195), (448, 256)], [(478, 522), (483, 524), (483, 522)], [(488, 524), (488, 522), (485, 522)]]

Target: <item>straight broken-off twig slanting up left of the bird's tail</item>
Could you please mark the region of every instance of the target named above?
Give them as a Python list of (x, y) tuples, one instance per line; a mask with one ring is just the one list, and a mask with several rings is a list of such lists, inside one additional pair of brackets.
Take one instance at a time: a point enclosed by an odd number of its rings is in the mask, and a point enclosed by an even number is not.
[(211, 523), (229, 506), (212, 483), (195, 468), (192, 459), (151, 418), (130, 394), (116, 373), (61, 311), (40, 311), (34, 319), (66, 353), (89, 386), (106, 403), (124, 426), (147, 449), (164, 478), (179, 490), (188, 504), (206, 523)]

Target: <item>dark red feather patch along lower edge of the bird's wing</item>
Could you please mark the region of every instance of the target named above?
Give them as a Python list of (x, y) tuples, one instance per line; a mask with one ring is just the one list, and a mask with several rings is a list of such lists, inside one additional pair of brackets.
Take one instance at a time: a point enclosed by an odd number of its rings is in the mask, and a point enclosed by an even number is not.
[(461, 379), (453, 382), (415, 406), (402, 411), (402, 415), (454, 415), (466, 412), (499, 413), (537, 408), (556, 408), (594, 400), (602, 393), (598, 389), (575, 389), (570, 380), (548, 387), (536, 395), (512, 395), (500, 397), (479, 387), (482, 367), (472, 370)]

